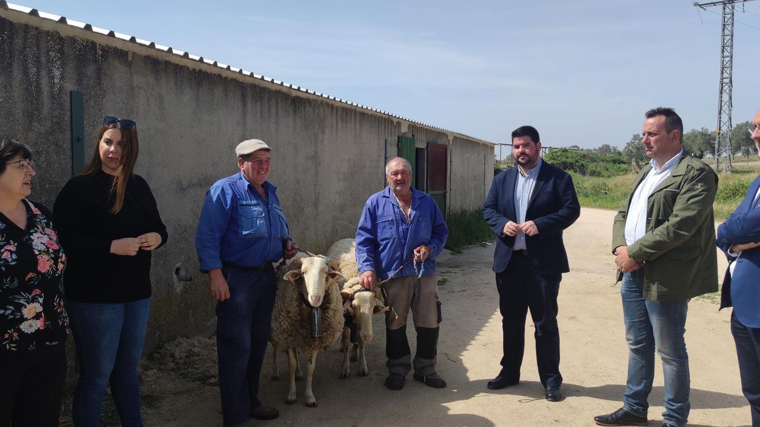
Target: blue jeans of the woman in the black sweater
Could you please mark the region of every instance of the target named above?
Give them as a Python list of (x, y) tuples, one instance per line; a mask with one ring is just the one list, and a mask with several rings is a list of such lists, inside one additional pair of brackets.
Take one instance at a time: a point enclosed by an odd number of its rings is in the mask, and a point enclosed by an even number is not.
[(66, 311), (79, 367), (71, 405), (74, 425), (99, 425), (103, 396), (109, 384), (122, 425), (142, 425), (137, 367), (150, 298), (131, 303), (66, 301)]

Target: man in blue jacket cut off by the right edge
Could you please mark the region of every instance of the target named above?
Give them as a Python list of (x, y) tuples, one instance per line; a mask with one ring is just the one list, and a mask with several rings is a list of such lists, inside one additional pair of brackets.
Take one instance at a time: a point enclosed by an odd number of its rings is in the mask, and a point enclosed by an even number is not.
[[(749, 125), (760, 156), (760, 110)], [(720, 308), (733, 305), (731, 334), (736, 343), (742, 391), (760, 425), (760, 176), (742, 203), (717, 228), (717, 246), (730, 262), (720, 291)]]

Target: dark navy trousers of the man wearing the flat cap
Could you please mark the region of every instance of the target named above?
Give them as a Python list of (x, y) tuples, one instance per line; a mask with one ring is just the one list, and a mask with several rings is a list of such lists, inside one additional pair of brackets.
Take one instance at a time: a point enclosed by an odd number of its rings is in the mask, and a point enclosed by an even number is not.
[(217, 354), (224, 425), (250, 418), (260, 407), (258, 380), (269, 341), (276, 280), (274, 268), (225, 266), (230, 299), (217, 303)]

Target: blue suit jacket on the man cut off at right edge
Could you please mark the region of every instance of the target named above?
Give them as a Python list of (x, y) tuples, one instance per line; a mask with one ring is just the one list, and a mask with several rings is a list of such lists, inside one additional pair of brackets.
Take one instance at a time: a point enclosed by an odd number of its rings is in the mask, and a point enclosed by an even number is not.
[[(752, 203), (760, 188), (760, 177), (749, 186), (742, 203), (726, 221), (717, 228), (717, 246), (726, 253), (733, 243), (760, 241), (760, 206)], [(736, 261), (733, 278), (726, 272), (720, 292), (720, 308), (733, 305), (733, 313), (739, 322), (749, 328), (760, 328), (760, 246), (745, 250)]]

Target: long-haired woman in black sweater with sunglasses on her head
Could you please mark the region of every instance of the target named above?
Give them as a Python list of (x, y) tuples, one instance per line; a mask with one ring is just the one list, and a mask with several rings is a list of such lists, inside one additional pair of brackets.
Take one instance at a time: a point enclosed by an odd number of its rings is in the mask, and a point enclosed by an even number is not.
[(132, 172), (138, 152), (135, 121), (105, 116), (92, 159), (53, 206), (68, 256), (77, 426), (98, 425), (109, 384), (122, 425), (142, 425), (137, 366), (150, 309), (150, 253), (168, 236), (150, 187)]

